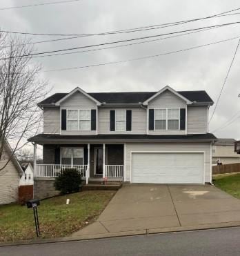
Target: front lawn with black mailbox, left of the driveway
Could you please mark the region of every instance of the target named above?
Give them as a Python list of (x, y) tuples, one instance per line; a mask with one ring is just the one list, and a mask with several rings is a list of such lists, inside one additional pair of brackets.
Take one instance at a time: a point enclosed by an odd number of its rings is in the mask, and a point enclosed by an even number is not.
[[(83, 228), (99, 216), (113, 195), (114, 191), (83, 191), (41, 201), (38, 206), (41, 237), (64, 237)], [(18, 204), (0, 206), (1, 242), (35, 237), (32, 209)]]

